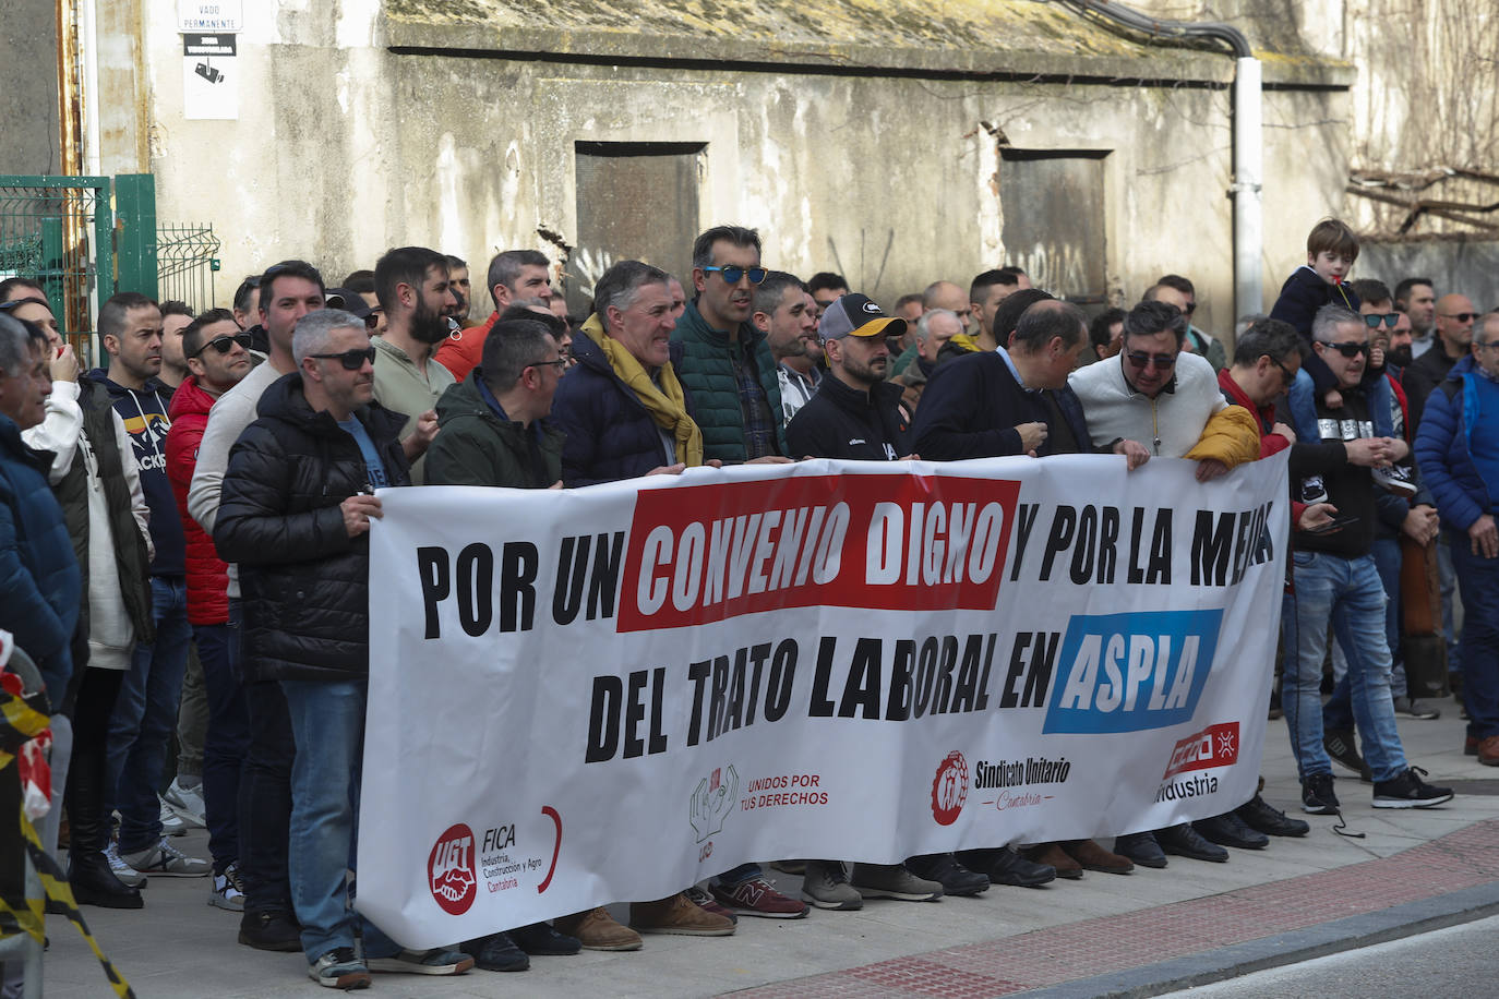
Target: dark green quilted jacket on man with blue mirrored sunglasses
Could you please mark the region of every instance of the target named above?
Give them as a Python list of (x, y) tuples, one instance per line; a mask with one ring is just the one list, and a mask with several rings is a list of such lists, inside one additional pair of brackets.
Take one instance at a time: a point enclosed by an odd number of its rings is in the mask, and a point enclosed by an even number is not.
[(687, 303), (687, 312), (676, 321), (672, 343), (682, 344), (681, 361), (673, 361), (682, 388), (697, 398), (697, 425), (703, 428), (703, 457), (726, 464), (739, 464), (748, 457), (745, 449), (745, 418), (739, 406), (739, 379), (735, 377), (735, 356), (748, 355), (770, 406), (775, 424), (775, 446), (785, 454), (785, 425), (781, 412), (781, 379), (775, 373), (775, 358), (764, 343), (764, 334), (754, 324), (739, 324), (739, 338), (712, 330), (697, 303)]

